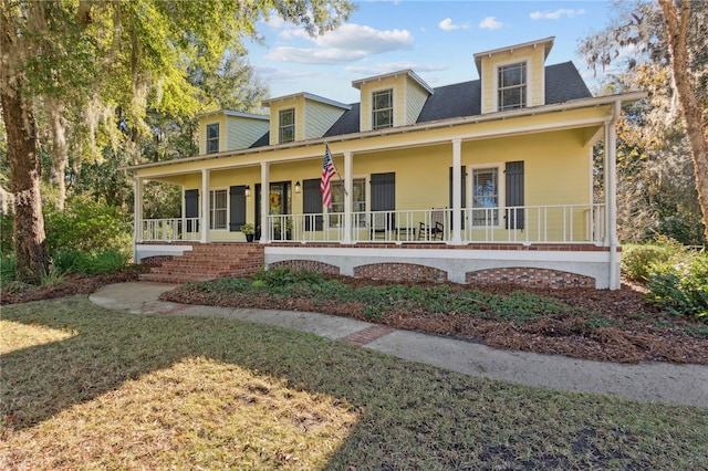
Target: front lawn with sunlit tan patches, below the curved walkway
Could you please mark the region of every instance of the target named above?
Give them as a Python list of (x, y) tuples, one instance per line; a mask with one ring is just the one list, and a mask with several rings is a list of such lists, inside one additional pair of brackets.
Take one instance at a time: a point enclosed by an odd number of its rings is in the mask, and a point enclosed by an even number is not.
[(85, 296), (3, 306), (0, 322), (0, 469), (708, 468), (708, 409)]

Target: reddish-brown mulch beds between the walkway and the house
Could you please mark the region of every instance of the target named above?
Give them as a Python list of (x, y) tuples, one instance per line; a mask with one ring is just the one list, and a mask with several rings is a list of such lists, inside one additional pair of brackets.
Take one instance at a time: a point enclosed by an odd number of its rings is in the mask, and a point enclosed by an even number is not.
[[(1, 304), (90, 294), (98, 287), (126, 281), (136, 281), (138, 272), (125, 271), (112, 275), (67, 275), (53, 286), (34, 287), (24, 292), (8, 292), (3, 286)], [(357, 286), (382, 281), (339, 278)], [(519, 291), (512, 285), (475, 285), (475, 290), (496, 294)], [(195, 293), (173, 291), (165, 293), (166, 301), (186, 304), (212, 304), (230, 307), (278, 308), (314, 311), (324, 314), (348, 316), (376, 322), (395, 328), (427, 332), (471, 342), (481, 342), (496, 348), (561, 354), (575, 358), (602, 362), (638, 363), (674, 362), (708, 365), (708, 338), (691, 337), (684, 328), (702, 327), (687, 320), (666, 316), (644, 302), (641, 289), (623, 284), (621, 290), (592, 289), (533, 289), (537, 295), (556, 299), (570, 306), (584, 307), (587, 315), (543, 317), (513, 324), (485, 320), (456, 313), (392, 312), (368, 320), (363, 306), (356, 303), (313, 305), (309, 300), (290, 300), (275, 303), (269, 296), (228, 296), (206, 299)], [(602, 326), (591, 326), (602, 315)]]

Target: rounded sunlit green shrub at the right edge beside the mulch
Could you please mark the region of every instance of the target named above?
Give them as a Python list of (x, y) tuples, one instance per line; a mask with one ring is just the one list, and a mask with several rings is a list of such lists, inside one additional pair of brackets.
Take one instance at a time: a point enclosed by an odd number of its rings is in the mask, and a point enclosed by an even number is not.
[(650, 266), (648, 300), (669, 314), (708, 322), (708, 254), (684, 252)]

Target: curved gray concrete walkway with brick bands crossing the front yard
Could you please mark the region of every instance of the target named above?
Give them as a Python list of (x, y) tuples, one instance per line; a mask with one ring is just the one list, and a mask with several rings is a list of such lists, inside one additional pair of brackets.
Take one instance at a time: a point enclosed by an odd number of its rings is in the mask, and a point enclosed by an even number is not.
[(119, 283), (104, 286), (90, 299), (101, 306), (135, 314), (221, 316), (278, 325), (466, 375), (527, 386), (708, 408), (708, 366), (590, 362), (561, 355), (500, 350), (317, 313), (212, 307), (158, 300), (163, 292), (174, 287), (146, 282)]

